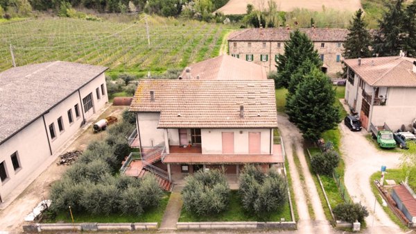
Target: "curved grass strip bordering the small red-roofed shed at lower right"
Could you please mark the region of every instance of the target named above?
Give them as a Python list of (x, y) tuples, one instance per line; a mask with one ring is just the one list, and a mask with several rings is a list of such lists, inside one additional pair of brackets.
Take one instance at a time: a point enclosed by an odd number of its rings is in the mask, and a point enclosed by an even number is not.
[[(401, 171), (401, 169), (387, 169), (386, 171), (387, 173), (385, 173), (385, 180), (395, 180), (396, 183), (399, 183), (400, 181), (404, 180), (404, 173)], [(399, 226), (402, 230), (404, 231), (408, 231), (408, 227), (406, 225), (404, 225), (399, 217), (397, 217), (395, 215), (395, 213), (390, 210), (390, 208), (388, 206), (383, 206), (383, 199), (381, 198), (381, 194), (379, 192), (379, 190), (377, 190), (376, 185), (374, 185), (374, 180), (376, 179), (380, 179), (381, 176), (381, 172), (375, 172), (374, 174), (372, 174), (370, 176), (370, 185), (371, 185), (371, 190), (374, 194), (374, 196), (376, 197), (377, 202), (379, 202), (379, 204), (381, 205), (381, 207), (383, 208), (384, 212), (387, 213), (388, 217), (390, 217), (390, 219), (392, 219), (392, 222), (395, 222), (395, 224), (397, 224), (397, 226)], [(385, 181), (384, 180), (384, 181)]]

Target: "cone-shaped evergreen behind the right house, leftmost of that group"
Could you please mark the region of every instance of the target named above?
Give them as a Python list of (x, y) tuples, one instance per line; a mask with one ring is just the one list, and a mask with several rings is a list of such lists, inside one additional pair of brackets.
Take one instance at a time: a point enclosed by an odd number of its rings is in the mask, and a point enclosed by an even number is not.
[(371, 35), (365, 28), (367, 24), (363, 20), (363, 10), (356, 11), (354, 18), (349, 22), (349, 33), (344, 43), (344, 58), (368, 58), (371, 57)]

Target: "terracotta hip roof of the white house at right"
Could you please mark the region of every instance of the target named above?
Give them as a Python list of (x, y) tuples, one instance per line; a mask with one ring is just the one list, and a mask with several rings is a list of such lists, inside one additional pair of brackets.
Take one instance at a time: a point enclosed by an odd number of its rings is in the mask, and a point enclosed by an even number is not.
[(413, 72), (415, 58), (379, 57), (347, 59), (345, 64), (352, 68), (365, 83), (375, 87), (416, 87), (416, 74)]

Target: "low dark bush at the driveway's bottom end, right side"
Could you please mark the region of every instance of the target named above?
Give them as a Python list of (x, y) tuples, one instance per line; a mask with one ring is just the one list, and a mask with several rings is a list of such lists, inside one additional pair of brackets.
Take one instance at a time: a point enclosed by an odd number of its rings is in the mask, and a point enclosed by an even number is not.
[(361, 203), (340, 203), (333, 208), (333, 215), (337, 220), (353, 223), (364, 222), (364, 218), (368, 216), (367, 208)]

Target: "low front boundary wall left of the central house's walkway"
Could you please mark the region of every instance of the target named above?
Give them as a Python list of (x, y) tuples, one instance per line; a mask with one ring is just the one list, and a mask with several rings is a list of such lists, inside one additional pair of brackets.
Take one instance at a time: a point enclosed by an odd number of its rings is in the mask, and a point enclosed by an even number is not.
[(24, 225), (27, 233), (56, 232), (56, 231), (135, 231), (157, 230), (157, 223), (81, 223), (81, 224), (31, 224)]

